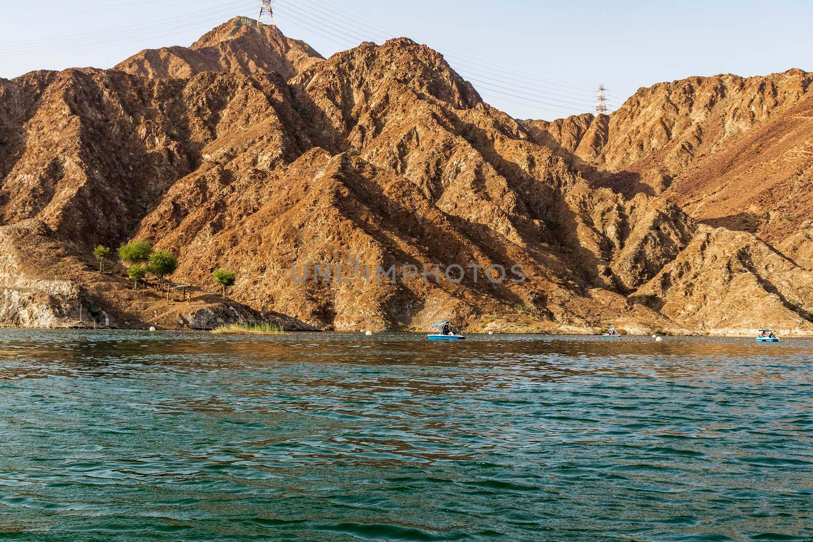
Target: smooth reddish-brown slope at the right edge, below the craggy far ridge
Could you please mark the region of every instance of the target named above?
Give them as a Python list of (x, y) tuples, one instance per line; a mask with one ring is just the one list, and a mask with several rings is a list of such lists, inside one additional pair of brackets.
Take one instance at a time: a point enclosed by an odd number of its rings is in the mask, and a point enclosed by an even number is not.
[[(813, 93), (689, 167), (664, 194), (703, 222), (754, 232), (813, 268)], [(798, 234), (802, 233), (802, 237)]]

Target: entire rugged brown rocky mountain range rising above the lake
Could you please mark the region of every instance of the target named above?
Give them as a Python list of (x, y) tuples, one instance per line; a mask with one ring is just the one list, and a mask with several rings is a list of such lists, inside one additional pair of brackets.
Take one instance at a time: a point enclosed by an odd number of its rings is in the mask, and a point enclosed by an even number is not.
[[(406, 38), (323, 59), (245, 18), (0, 80), (0, 322), (811, 334), (810, 83), (693, 77), (519, 121)], [(179, 255), (191, 301), (98, 273), (89, 250), (131, 238)], [(350, 258), (528, 280), (292, 280)], [(221, 267), (233, 301), (206, 293)]]

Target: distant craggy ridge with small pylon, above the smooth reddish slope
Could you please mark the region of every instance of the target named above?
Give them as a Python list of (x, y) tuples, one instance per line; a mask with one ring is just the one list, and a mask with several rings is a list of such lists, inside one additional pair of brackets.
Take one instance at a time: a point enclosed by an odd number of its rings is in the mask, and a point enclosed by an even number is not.
[(660, 191), (690, 165), (809, 97), (811, 81), (813, 74), (796, 68), (747, 78), (690, 77), (638, 89), (609, 116), (524, 124), (541, 144), (579, 158), (603, 174), (597, 180), (616, 181), (613, 188), (627, 195), (643, 185)]

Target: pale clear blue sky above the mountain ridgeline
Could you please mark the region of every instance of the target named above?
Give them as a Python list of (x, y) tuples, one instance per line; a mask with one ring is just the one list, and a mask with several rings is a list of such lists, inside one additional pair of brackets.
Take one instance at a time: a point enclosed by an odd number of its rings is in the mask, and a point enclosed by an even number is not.
[[(188, 46), (259, 0), (0, 0), (0, 77), (111, 67), (141, 49)], [(485, 100), (517, 118), (611, 107), (686, 76), (813, 69), (813, 2), (275, 0), (277, 24), (325, 56), (387, 37), (433, 46)]]

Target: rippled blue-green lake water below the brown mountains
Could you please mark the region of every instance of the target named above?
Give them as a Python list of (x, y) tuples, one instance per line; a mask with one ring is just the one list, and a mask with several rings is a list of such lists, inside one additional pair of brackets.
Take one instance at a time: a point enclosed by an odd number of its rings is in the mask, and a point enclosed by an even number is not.
[(0, 330), (0, 539), (813, 540), (811, 359)]

